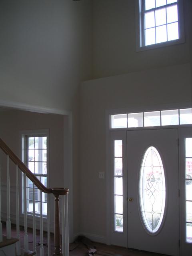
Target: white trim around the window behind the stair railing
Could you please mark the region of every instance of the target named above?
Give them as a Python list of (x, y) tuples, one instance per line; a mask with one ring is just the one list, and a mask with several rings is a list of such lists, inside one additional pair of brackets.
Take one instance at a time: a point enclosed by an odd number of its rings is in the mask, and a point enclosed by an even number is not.
[[(41, 135), (46, 135), (47, 136), (47, 187), (50, 186), (49, 181), (50, 181), (50, 172), (49, 172), (49, 159), (50, 159), (50, 154), (49, 154), (49, 148), (50, 148), (50, 143), (49, 143), (49, 130), (48, 129), (41, 129), (41, 130), (24, 130), (20, 131), (20, 142), (21, 142), (21, 159), (24, 164), (26, 164), (26, 136), (41, 136)], [(24, 189), (24, 182), (23, 182), (24, 175), (21, 173), (21, 189), (20, 189), (20, 198), (23, 198), (23, 189)], [(22, 200), (22, 204), (20, 205), (20, 213), (23, 213), (23, 208), (24, 208), (24, 200)], [(27, 213), (28, 216), (32, 216), (32, 213)], [(37, 214), (36, 217), (40, 217), (40, 214)], [(43, 215), (43, 218), (47, 219), (47, 215)]]

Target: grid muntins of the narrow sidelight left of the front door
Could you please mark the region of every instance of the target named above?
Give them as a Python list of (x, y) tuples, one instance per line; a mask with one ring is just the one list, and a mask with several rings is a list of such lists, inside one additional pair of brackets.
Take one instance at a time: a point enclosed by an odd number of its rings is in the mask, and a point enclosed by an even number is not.
[[(128, 118), (127, 118), (128, 119)], [(120, 141), (121, 145), (122, 145), (122, 140), (114, 140), (114, 231), (115, 232), (123, 232), (123, 154), (121, 154), (121, 156), (116, 156), (116, 141)], [(121, 149), (121, 153), (122, 153), (122, 149)], [(122, 174), (121, 175), (116, 175), (116, 159), (121, 159), (122, 162)], [(116, 178), (122, 178), (122, 194), (116, 194)], [(118, 213), (116, 212), (116, 196), (119, 196), (122, 198), (122, 213)], [(119, 223), (121, 224), (121, 226), (119, 226), (119, 230), (117, 229), (117, 219)]]

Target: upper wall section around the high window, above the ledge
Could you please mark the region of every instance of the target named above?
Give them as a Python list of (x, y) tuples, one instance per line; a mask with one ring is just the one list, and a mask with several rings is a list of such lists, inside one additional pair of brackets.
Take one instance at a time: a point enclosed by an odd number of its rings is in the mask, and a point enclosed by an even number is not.
[(185, 43), (136, 52), (135, 2), (93, 0), (93, 77), (126, 74), (190, 61), (191, 0), (184, 0)]

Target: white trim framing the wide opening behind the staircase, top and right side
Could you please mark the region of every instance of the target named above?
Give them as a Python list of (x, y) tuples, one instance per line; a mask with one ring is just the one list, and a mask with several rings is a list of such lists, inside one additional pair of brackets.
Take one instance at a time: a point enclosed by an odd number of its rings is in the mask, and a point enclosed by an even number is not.
[(70, 214), (68, 215), (69, 221), (69, 242), (73, 242), (73, 166), (72, 166), (72, 112), (68, 110), (62, 110), (57, 108), (47, 108), (42, 106), (34, 106), (30, 104), (24, 104), (20, 102), (12, 102), (8, 100), (0, 100), (0, 107), (24, 110), (30, 112), (37, 112), (42, 114), (59, 114), (63, 116), (64, 119), (64, 187), (69, 188), (68, 195), (68, 210)]

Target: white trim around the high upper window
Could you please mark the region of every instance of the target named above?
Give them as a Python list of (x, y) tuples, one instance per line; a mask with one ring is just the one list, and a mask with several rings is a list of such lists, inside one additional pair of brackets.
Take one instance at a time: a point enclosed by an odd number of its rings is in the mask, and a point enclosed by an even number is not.
[(143, 45), (143, 21), (141, 17), (142, 10), (142, 0), (135, 0), (135, 18), (136, 18), (136, 52), (141, 52), (145, 50), (152, 50), (156, 48), (161, 48), (165, 46), (172, 46), (175, 44), (181, 44), (185, 42), (184, 36), (184, 14), (183, 14), (183, 0), (178, 0), (178, 29), (179, 29), (179, 39), (162, 42), (158, 44)]

